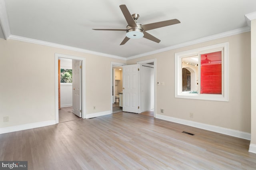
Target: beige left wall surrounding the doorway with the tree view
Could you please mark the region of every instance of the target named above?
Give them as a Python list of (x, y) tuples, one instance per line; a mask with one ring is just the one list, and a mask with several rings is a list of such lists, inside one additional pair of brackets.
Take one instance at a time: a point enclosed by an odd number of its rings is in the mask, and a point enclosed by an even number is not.
[(55, 120), (55, 53), (86, 58), (86, 114), (110, 111), (110, 62), (126, 61), (0, 39), (0, 128)]

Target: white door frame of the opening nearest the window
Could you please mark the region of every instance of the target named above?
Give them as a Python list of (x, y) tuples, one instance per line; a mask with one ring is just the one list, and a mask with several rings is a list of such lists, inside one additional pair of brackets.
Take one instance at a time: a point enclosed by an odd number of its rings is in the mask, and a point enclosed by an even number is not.
[[(147, 63), (152, 63), (154, 62), (154, 117), (156, 117), (156, 59), (148, 59), (144, 61), (138, 61), (137, 64), (147, 64)], [(142, 75), (140, 71), (140, 82), (142, 81)], [(141, 86), (141, 83), (140, 83)], [(139, 91), (139, 103), (141, 103), (141, 91)], [(141, 108), (141, 107), (140, 107)], [(139, 113), (141, 113), (141, 110), (139, 109)]]

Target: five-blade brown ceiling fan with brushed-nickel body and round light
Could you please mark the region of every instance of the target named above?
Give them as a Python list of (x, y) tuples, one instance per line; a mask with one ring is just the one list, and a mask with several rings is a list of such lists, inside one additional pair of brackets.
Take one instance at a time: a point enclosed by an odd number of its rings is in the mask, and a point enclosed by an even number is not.
[(122, 10), (122, 13), (124, 14), (124, 18), (126, 19), (126, 22), (128, 23), (128, 26), (126, 26), (126, 29), (92, 29), (92, 30), (126, 31), (126, 37), (124, 38), (124, 40), (121, 42), (120, 45), (124, 45), (126, 42), (128, 42), (128, 40), (130, 40), (130, 38), (139, 39), (142, 37), (148, 40), (151, 40), (153, 42), (159, 43), (161, 40), (152, 36), (151, 34), (148, 34), (146, 31), (180, 23), (179, 20), (173, 19), (173, 20), (166, 20), (166, 21), (141, 25), (136, 22), (140, 17), (139, 14), (131, 15), (126, 5), (120, 5), (119, 7)]

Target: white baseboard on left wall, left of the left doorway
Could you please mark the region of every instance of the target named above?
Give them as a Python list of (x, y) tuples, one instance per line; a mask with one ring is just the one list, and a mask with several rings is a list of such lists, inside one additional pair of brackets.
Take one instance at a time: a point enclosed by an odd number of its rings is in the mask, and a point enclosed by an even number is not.
[(46, 127), (46, 126), (50, 126), (50, 125), (55, 125), (55, 120), (36, 122), (36, 123), (28, 123), (28, 124), (24, 124), (24, 125), (0, 128), (0, 134), (16, 132), (16, 131), (26, 130), (26, 129), (31, 129), (31, 128)]

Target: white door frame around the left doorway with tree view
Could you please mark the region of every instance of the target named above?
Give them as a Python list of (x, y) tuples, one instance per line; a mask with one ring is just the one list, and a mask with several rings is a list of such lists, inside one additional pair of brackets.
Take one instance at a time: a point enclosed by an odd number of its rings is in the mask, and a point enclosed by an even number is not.
[(82, 113), (81, 116), (83, 119), (86, 117), (86, 95), (85, 95), (85, 58), (77, 57), (73, 55), (65, 55), (55, 53), (55, 124), (59, 123), (59, 109), (58, 109), (58, 59), (66, 58), (66, 59), (75, 59), (82, 61), (81, 65), (81, 108)]

